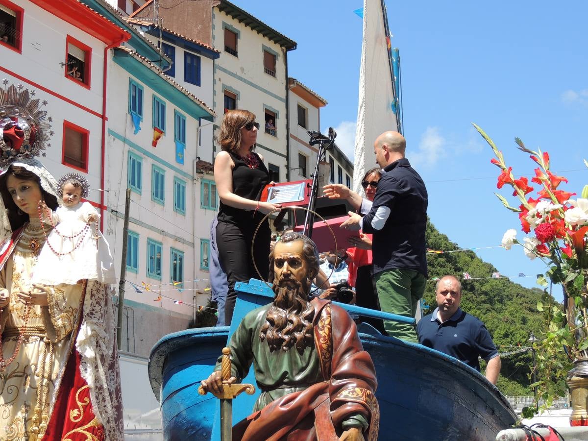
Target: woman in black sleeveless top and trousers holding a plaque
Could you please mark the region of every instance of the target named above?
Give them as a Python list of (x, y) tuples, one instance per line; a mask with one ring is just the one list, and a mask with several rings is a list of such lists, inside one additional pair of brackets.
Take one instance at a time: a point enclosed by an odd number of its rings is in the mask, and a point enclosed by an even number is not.
[(253, 151), (259, 123), (246, 110), (225, 114), (218, 142), (222, 151), (215, 158), (216, 191), (220, 198), (216, 242), (222, 268), (227, 275), (229, 291), (225, 303), (225, 325), (230, 326), (237, 293), (235, 283), (258, 278), (253, 260), (263, 278), (269, 269), (269, 221), (260, 226), (251, 253), (253, 233), (263, 216), (280, 208), (259, 198), (269, 183), (263, 156)]

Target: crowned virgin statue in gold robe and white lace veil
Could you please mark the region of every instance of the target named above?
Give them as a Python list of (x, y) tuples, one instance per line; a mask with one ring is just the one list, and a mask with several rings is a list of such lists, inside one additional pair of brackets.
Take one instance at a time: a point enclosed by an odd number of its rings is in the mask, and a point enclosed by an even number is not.
[(64, 199), (35, 159), (51, 118), (34, 95), (0, 89), (0, 439), (122, 441), (111, 286), (31, 280), (41, 252), (54, 252), (44, 247), (58, 226), (45, 217)]

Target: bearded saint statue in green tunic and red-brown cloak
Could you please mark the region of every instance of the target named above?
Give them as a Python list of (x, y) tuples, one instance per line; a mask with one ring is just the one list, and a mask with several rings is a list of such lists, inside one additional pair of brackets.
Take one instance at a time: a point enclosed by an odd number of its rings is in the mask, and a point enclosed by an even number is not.
[[(239, 440), (376, 440), (376, 372), (355, 323), (330, 300), (313, 298), (319, 272), (315, 243), (286, 233), (270, 253), (272, 303), (249, 312), (230, 339), (232, 377), (253, 363), (262, 391), (253, 413), (233, 427)], [(222, 389), (220, 360), (202, 382)], [(365, 436), (365, 438), (364, 438)]]

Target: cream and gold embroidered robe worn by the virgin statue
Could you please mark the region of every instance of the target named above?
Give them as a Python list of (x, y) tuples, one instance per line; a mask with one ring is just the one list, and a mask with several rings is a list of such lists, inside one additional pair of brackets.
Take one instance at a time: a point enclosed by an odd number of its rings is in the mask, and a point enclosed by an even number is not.
[(40, 440), (44, 435), (81, 316), (85, 280), (47, 287), (48, 307), (25, 307), (19, 300), (18, 292), (32, 289), (31, 273), (44, 242), (39, 223), (29, 223), (0, 271), (0, 289), (7, 289), (10, 296), (0, 315), (5, 361), (14, 354), (24, 331), (15, 359), (0, 372), (2, 440), (34, 439), (37, 434)]

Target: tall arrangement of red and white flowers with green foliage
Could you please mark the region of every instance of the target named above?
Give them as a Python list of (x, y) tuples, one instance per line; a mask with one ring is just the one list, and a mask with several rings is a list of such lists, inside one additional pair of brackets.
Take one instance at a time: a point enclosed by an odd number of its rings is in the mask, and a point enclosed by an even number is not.
[[(550, 266), (544, 275), (537, 275), (539, 285), (546, 287), (549, 279), (563, 286), (563, 305), (554, 302), (550, 295), (543, 297), (547, 305), (537, 304), (547, 320), (545, 335), (533, 345), (538, 360), (533, 369), (540, 380), (532, 386), (537, 387), (536, 400), (543, 403), (534, 410), (539, 412), (566, 393), (564, 380), (572, 365), (562, 358), (562, 352), (572, 362), (588, 360), (588, 185), (580, 198), (572, 199), (576, 193), (560, 189), (567, 179), (550, 171), (549, 154), (527, 149), (519, 138), (515, 138), (518, 149), (530, 155), (536, 168), (530, 182), (525, 176), (516, 178), (492, 139), (479, 126), (474, 127), (496, 156), (490, 162), (500, 169), (497, 188), (509, 185), (519, 202), (519, 206), (511, 206), (504, 196), (495, 193), (507, 209), (518, 213), (526, 233), (519, 241), (515, 229), (507, 230), (502, 246), (510, 249), (515, 244), (522, 245), (529, 259), (540, 258)], [(586, 160), (584, 164), (588, 167)], [(529, 184), (536, 184), (537, 189)]]

